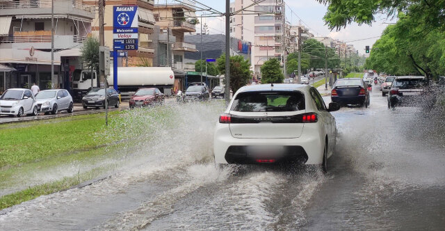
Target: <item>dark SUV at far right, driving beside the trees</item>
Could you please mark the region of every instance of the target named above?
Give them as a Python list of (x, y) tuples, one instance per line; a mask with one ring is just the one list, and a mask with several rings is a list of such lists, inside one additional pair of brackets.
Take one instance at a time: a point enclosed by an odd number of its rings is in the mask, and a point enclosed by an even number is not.
[(388, 108), (423, 106), (428, 109), (436, 102), (435, 88), (428, 86), (425, 77), (396, 77), (388, 93)]

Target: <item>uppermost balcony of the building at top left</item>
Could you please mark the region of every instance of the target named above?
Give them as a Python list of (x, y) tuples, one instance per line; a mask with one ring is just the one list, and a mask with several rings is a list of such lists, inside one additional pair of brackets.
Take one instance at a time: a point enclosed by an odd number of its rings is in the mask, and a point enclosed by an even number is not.
[[(0, 16), (3, 15), (15, 15), (17, 18), (51, 15), (51, 0), (0, 1)], [(54, 0), (54, 15), (76, 15), (91, 21), (95, 17), (95, 6), (84, 5), (79, 1)]]

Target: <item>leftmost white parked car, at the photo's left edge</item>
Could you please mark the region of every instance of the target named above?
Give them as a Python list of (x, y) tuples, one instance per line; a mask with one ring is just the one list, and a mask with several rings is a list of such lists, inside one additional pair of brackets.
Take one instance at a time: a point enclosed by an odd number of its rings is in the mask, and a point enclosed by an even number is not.
[(0, 115), (37, 116), (38, 108), (31, 90), (26, 88), (10, 88), (0, 97)]

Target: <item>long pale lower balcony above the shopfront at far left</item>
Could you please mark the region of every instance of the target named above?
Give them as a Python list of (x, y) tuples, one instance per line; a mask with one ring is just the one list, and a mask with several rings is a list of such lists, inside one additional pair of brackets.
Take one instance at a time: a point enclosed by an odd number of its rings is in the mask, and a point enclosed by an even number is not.
[[(85, 42), (86, 39), (79, 35), (54, 35), (54, 49), (74, 47)], [(51, 35), (10, 35), (0, 40), (0, 47), (51, 49)]]

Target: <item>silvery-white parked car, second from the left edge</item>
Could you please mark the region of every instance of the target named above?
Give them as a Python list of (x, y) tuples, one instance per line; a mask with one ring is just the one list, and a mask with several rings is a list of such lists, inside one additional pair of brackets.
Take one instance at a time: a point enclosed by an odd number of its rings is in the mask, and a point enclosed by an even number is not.
[(64, 110), (72, 113), (74, 108), (72, 97), (65, 89), (41, 90), (35, 100), (39, 111), (44, 113), (57, 114)]

